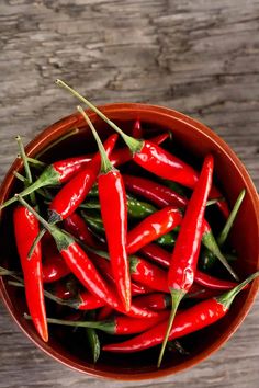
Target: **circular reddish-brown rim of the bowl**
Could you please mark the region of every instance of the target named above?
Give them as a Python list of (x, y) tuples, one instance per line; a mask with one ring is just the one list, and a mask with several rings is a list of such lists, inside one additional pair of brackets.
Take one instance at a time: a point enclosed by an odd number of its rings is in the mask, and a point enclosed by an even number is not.
[[(111, 104), (105, 104), (105, 105), (99, 105), (99, 109), (106, 115), (111, 114), (120, 114), (120, 113), (131, 113), (134, 116), (136, 115), (137, 112), (153, 112), (154, 114), (158, 115), (164, 115), (165, 117), (173, 117), (178, 122), (181, 122), (182, 124), (188, 125), (189, 127), (193, 128), (198, 133), (202, 133), (203, 136), (210, 138), (213, 142), (216, 142), (217, 148), (219, 148), (235, 164), (235, 169), (238, 171), (239, 175), (243, 178), (244, 182), (246, 183), (246, 189), (247, 192), (249, 192), (251, 202), (252, 202), (252, 207), (256, 214), (257, 218), (257, 228), (259, 230), (259, 199), (258, 199), (258, 194), (257, 190), (252, 183), (252, 180), (245, 168), (244, 163), (240, 161), (240, 159), (237, 157), (237, 155), (234, 152), (234, 150), (223, 140), (217, 134), (215, 134), (212, 129), (210, 129), (206, 125), (200, 123), (199, 121), (180, 113), (176, 110), (160, 106), (160, 105), (153, 105), (153, 104), (144, 104), (144, 103), (111, 103)], [(94, 117), (97, 117), (97, 114), (93, 113), (92, 111), (86, 110), (88, 112), (88, 115), (90, 116), (91, 119), (94, 121)], [(135, 117), (136, 118), (136, 117)], [(130, 118), (127, 118), (130, 119)], [(82, 123), (82, 117), (78, 113), (72, 113), (71, 115), (68, 115), (58, 122), (49, 125), (45, 129), (43, 129), (38, 135), (32, 139), (29, 145), (25, 147), (25, 150), (29, 156), (32, 156), (36, 152), (37, 149), (43, 149), (45, 144), (52, 142), (53, 140), (57, 139), (64, 128), (67, 126), (71, 127), (72, 125), (80, 125)], [(52, 139), (50, 139), (52, 138)], [(49, 141), (50, 139), (50, 141)], [(13, 171), (14, 170), (20, 170), (22, 168), (22, 160), (15, 159), (14, 162), (11, 164), (10, 169), (5, 173), (5, 176), (2, 181), (1, 187), (0, 187), (0, 204), (2, 204), (5, 201), (7, 193), (9, 192), (10, 187), (12, 186), (14, 182), (14, 175)], [(259, 264), (259, 258), (258, 258), (258, 264)], [(258, 265), (259, 266), (259, 265)], [(248, 315), (255, 299), (257, 296), (257, 292), (259, 289), (259, 279), (255, 279), (251, 284), (251, 287), (249, 288), (249, 293), (246, 298), (246, 303), (239, 310), (237, 317), (232, 321), (229, 328), (226, 333), (219, 336), (212, 345), (210, 345), (205, 351), (202, 352), (202, 354), (198, 354), (194, 357), (184, 362), (184, 364), (179, 364), (177, 366), (171, 366), (167, 368), (160, 368), (154, 372), (147, 372), (147, 373), (139, 373), (136, 375), (132, 375), (131, 373), (120, 373), (120, 375), (108, 372), (108, 370), (98, 370), (92, 367), (83, 366), (83, 365), (78, 365), (76, 362), (69, 360), (67, 356), (61, 355), (60, 353), (54, 351), (53, 347), (48, 346), (46, 343), (43, 343), (37, 335), (33, 335), (33, 333), (30, 333), (25, 327), (22, 324), (22, 319), (21, 316), (18, 315), (18, 311), (15, 310), (14, 306), (11, 303), (11, 299), (9, 298), (8, 292), (4, 286), (3, 278), (0, 277), (0, 296), (3, 299), (3, 303), (9, 310), (10, 315), (12, 316), (13, 320), (16, 322), (16, 324), (20, 327), (20, 329), (26, 334), (26, 336), (37, 346), (40, 347), (44, 353), (49, 355), (50, 357), (57, 360), (61, 364), (77, 370), (80, 373), (88, 374), (93, 377), (98, 378), (104, 378), (104, 379), (114, 379), (114, 380), (124, 380), (124, 381), (137, 381), (137, 380), (147, 380), (147, 379), (153, 379), (153, 378), (159, 378), (159, 377), (166, 377), (169, 375), (174, 375), (176, 373), (183, 372), (200, 362), (204, 361), (211, 354), (216, 352), (222, 345), (234, 334), (234, 332), (239, 328), (239, 326), (243, 323), (244, 319)]]

